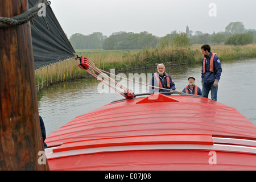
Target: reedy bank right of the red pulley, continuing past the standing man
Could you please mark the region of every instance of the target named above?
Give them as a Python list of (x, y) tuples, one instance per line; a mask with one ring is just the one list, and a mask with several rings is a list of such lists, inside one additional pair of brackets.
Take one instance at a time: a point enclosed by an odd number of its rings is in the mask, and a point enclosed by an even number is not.
[[(212, 52), (216, 52), (221, 61), (239, 60), (256, 57), (256, 44), (246, 46), (211, 45)], [(191, 47), (162, 47), (142, 50), (104, 51), (101, 49), (89, 52), (77, 52), (86, 56), (98, 68), (109, 70), (127, 68), (148, 68), (158, 63), (164, 64), (194, 64), (203, 58), (201, 45)]]

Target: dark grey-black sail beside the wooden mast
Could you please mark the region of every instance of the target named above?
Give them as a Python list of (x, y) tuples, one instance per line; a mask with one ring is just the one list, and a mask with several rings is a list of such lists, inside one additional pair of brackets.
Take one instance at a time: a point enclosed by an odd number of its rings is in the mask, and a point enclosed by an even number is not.
[[(29, 8), (36, 0), (29, 0)], [(75, 57), (75, 51), (50, 6), (45, 16), (30, 21), (35, 70)]]

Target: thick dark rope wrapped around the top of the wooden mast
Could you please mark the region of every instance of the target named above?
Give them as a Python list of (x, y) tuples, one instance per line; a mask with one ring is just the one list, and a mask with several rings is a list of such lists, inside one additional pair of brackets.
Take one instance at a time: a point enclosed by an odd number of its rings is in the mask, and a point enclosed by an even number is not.
[[(42, 9), (42, 6), (40, 6), (40, 3), (44, 3), (47, 6), (51, 4), (51, 2), (47, 0), (38, 0), (34, 7), (32, 7), (30, 10), (10, 18), (7, 17), (0, 17), (0, 28), (6, 28), (10, 26), (18, 26), (24, 23), (27, 23), (33, 18), (36, 18), (38, 16), (38, 11)], [(38, 7), (39, 6), (39, 7)]]

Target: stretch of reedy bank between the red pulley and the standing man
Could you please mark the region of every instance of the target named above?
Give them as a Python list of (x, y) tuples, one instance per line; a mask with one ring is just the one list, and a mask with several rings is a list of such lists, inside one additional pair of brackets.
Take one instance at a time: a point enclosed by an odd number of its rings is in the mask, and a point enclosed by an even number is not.
[[(164, 47), (142, 50), (104, 51), (93, 52), (80, 51), (79, 56), (88, 57), (96, 67), (109, 70), (148, 68), (158, 63), (177, 64), (195, 63), (196, 51), (191, 48)], [(104, 67), (103, 67), (104, 66)]]

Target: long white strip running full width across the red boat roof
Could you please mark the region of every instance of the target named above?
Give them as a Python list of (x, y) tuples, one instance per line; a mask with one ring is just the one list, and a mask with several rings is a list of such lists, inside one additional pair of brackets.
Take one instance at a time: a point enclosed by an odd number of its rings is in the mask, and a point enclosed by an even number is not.
[(209, 150), (209, 151), (226, 151), (239, 152), (246, 154), (256, 154), (256, 147), (234, 146), (227, 144), (152, 144), (152, 145), (135, 145), (135, 146), (113, 146), (85, 148), (79, 150), (70, 150), (63, 152), (52, 152), (52, 148), (46, 150), (47, 159), (61, 158), (65, 156), (94, 154), (98, 152), (117, 152), (117, 151), (136, 151), (136, 150)]

